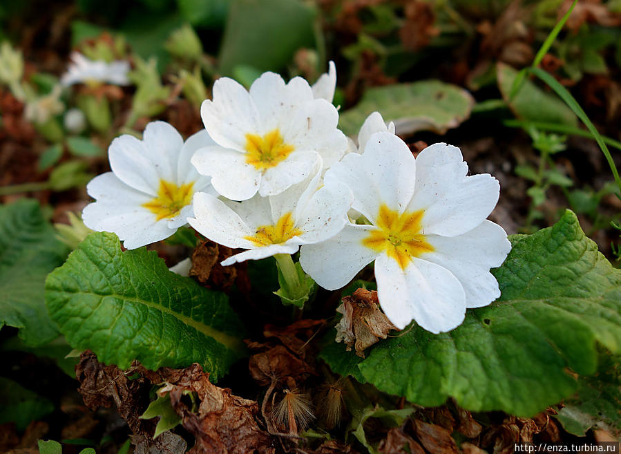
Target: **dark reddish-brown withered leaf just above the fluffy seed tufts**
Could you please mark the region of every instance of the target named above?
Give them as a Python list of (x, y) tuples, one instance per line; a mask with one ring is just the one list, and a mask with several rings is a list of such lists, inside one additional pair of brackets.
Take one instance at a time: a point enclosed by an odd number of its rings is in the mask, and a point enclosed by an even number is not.
[(294, 356), (284, 346), (253, 354), (248, 368), (252, 378), (261, 386), (267, 386), (274, 380), (285, 381), (287, 378), (303, 381), (315, 373), (305, 361)]

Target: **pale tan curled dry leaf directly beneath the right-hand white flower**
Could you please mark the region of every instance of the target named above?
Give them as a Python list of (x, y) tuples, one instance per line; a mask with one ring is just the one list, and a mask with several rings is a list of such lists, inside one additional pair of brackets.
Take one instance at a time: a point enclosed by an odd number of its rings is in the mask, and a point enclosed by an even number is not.
[(356, 350), (364, 358), (364, 350), (379, 339), (386, 339), (390, 330), (397, 328), (379, 309), (377, 292), (359, 288), (352, 296), (345, 296), (337, 312), (343, 318), (336, 325), (336, 341), (347, 343), (347, 350)]

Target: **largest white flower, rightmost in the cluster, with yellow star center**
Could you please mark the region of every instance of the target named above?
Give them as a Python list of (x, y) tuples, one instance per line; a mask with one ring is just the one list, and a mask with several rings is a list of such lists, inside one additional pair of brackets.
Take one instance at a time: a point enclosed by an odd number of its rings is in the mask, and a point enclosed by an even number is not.
[(325, 175), (354, 193), (372, 225), (347, 225), (325, 243), (305, 245), (300, 265), (328, 290), (375, 261), (382, 309), (399, 329), (414, 319), (438, 333), (457, 327), (466, 308), (499, 295), (489, 270), (510, 250), (505, 231), (486, 220), (499, 196), (489, 174), (467, 176), (455, 146), (434, 144), (416, 160), (396, 135), (375, 133)]

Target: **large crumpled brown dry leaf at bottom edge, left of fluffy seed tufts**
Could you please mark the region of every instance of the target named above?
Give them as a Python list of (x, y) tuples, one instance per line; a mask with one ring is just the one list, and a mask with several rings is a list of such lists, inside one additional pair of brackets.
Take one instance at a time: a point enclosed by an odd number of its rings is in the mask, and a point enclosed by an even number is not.
[[(196, 437), (189, 454), (274, 453), (271, 437), (257, 422), (258, 404), (218, 388), (209, 381), (209, 374), (198, 364), (163, 377), (171, 404), (187, 431)], [(200, 399), (198, 413), (193, 413), (182, 399), (195, 392)]]

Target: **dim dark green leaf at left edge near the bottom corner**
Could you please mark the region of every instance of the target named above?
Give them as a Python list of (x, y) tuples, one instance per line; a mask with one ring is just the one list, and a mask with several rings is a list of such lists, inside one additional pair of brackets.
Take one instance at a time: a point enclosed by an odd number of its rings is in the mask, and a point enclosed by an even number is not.
[(52, 411), (54, 405), (45, 397), (15, 381), (0, 377), (0, 424), (15, 422), (15, 427), (21, 432), (31, 421), (37, 421)]

